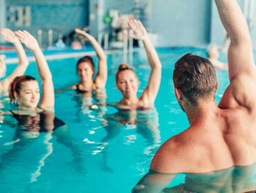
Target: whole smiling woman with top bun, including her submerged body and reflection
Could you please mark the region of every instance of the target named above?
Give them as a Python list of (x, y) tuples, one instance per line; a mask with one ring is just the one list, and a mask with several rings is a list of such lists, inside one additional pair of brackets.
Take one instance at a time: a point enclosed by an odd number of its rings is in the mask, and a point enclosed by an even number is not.
[[(134, 34), (130, 34), (130, 36), (143, 41), (152, 72), (147, 87), (140, 98), (138, 98), (138, 77), (128, 65), (121, 64), (116, 74), (116, 85), (122, 93), (122, 100), (119, 103), (107, 103), (107, 105), (113, 105), (118, 108), (118, 112), (115, 114), (106, 114), (104, 110), (102, 112), (97, 106), (97, 104), (100, 106), (104, 106), (105, 104), (96, 103), (95, 105), (91, 105), (93, 110), (102, 113), (104, 119), (102, 125), (107, 132), (107, 135), (104, 136), (98, 146), (100, 149), (98, 152), (102, 152), (103, 154), (104, 170), (106, 171), (111, 171), (111, 167), (109, 167), (111, 141), (118, 137), (123, 128), (136, 129), (139, 134), (145, 137), (147, 141), (147, 148), (144, 150), (145, 154), (151, 154), (152, 150), (157, 148), (158, 143), (161, 142), (161, 136), (158, 130), (158, 113), (154, 109), (154, 101), (161, 83), (161, 61), (149, 40), (143, 24), (140, 21), (131, 20), (129, 21), (129, 26), (134, 30)], [(132, 143), (134, 143), (135, 139), (136, 136), (132, 139)]]

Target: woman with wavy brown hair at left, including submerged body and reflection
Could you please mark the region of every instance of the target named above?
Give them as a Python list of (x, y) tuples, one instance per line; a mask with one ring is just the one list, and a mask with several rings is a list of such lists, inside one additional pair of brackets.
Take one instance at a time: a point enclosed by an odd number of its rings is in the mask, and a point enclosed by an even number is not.
[[(48, 68), (44, 54), (39, 48), (37, 40), (31, 34), (26, 31), (17, 31), (15, 34), (35, 55), (39, 76), (42, 79), (42, 100), (39, 103), (39, 83), (35, 78), (21, 76), (16, 77), (14, 81), (12, 81), (9, 96), (11, 101), (15, 101), (19, 105), (19, 108), (17, 110), (11, 110), (9, 113), (6, 112), (5, 114), (11, 114), (17, 119), (18, 128), (15, 130), (15, 136), (12, 139), (12, 143), (15, 143), (12, 150), (1, 155), (0, 167), (9, 165), (11, 160), (15, 160), (17, 154), (22, 150), (26, 150), (28, 145), (36, 139), (42, 139), (37, 136), (39, 136), (41, 132), (44, 132), (42, 136), (44, 136), (47, 152), (39, 161), (37, 171), (31, 174), (31, 181), (35, 181), (37, 176), (40, 175), (44, 161), (53, 153), (52, 143), (49, 143), (53, 138), (52, 135), (56, 136), (57, 142), (62, 143), (66, 148), (71, 150), (74, 157), (74, 166), (77, 167), (76, 169), (79, 172), (84, 172), (81, 154), (82, 148), (73, 141), (73, 137), (68, 132), (66, 124), (55, 117), (55, 94), (52, 74)], [(3, 124), (8, 123), (3, 121)]]

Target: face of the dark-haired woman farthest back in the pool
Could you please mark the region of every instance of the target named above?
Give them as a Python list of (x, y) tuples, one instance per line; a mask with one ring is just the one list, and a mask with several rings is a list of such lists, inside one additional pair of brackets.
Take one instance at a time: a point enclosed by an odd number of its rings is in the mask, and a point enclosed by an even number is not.
[(81, 81), (89, 81), (93, 79), (93, 68), (89, 62), (82, 62), (77, 65), (77, 74), (80, 77)]

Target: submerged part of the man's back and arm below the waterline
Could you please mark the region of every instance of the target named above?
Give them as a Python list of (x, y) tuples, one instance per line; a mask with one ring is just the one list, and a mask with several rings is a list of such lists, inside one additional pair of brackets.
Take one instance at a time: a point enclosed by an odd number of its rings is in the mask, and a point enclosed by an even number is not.
[(134, 187), (133, 192), (255, 192), (256, 163), (234, 166), (208, 173), (187, 173), (185, 183), (167, 187), (177, 174), (149, 171)]

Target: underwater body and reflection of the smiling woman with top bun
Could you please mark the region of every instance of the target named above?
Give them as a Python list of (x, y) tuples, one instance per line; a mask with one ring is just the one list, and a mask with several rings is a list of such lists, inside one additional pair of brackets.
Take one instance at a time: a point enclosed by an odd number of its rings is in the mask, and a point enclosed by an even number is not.
[[(147, 147), (143, 151), (144, 154), (152, 154), (152, 150), (160, 146), (161, 136), (156, 109), (118, 110), (114, 114), (104, 114), (103, 119), (104, 130), (106, 130), (107, 135), (101, 140), (98, 152), (103, 154), (104, 170), (107, 172), (112, 171), (109, 167), (109, 147), (122, 130), (136, 130), (138, 134), (143, 136), (147, 143)], [(125, 136), (123, 144), (129, 145), (135, 143), (136, 140), (136, 134), (129, 134)]]

